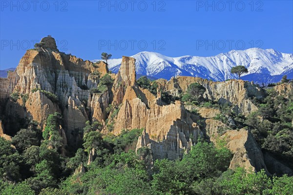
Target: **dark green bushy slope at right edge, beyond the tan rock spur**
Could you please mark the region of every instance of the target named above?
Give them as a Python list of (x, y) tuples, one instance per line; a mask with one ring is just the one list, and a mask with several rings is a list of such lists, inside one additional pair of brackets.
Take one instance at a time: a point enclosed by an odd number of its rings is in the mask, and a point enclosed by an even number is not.
[(245, 125), (264, 151), (293, 168), (293, 93), (285, 98), (272, 89), (267, 92), (258, 104), (258, 112), (251, 113)]

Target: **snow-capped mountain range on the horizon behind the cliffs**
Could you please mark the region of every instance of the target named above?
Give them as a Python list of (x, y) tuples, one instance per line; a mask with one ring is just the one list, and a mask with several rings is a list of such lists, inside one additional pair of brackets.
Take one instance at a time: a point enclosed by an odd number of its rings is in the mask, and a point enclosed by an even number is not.
[[(212, 57), (171, 58), (155, 52), (140, 52), (131, 57), (136, 59), (137, 74), (154, 78), (170, 79), (180, 75), (223, 81), (237, 78), (230, 73), (230, 69), (237, 65), (243, 65), (249, 71), (243, 75), (244, 80), (268, 83), (280, 81), (283, 75), (293, 78), (293, 54), (273, 49), (232, 50)], [(117, 73), (121, 61), (122, 59), (108, 59), (109, 70)]]

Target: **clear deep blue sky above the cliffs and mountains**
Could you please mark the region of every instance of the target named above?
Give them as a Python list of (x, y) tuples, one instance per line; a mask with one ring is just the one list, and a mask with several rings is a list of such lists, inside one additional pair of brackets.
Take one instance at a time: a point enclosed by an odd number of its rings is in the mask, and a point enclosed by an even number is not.
[(47, 35), (58, 40), (61, 51), (82, 59), (141, 51), (213, 56), (251, 46), (293, 53), (292, 0), (0, 3), (0, 69), (16, 67), (25, 50)]

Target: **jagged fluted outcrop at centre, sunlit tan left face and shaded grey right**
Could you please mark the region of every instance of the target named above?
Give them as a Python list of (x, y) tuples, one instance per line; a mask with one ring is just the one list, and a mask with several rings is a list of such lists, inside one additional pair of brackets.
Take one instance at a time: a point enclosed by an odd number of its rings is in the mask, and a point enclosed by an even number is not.
[(147, 115), (146, 129), (137, 149), (149, 147), (154, 159), (176, 159), (191, 149), (202, 131), (180, 101), (170, 105), (153, 104)]

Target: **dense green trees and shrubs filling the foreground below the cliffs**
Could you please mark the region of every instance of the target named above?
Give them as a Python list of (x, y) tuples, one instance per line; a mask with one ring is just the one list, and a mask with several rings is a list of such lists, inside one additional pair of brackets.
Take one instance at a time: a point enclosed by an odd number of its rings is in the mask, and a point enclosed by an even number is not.
[[(56, 126), (58, 114), (47, 125)], [(52, 131), (50, 129), (49, 132)], [(141, 130), (124, 131), (120, 136), (103, 137), (99, 123), (84, 128), (84, 148), (64, 158), (55, 148), (28, 144), (24, 151), (0, 138), (0, 190), (3, 195), (290, 195), (293, 177), (269, 177), (263, 171), (247, 173), (229, 170), (231, 152), (219, 145), (198, 140), (180, 160), (156, 160), (151, 151), (132, 150)], [(221, 146), (221, 147), (220, 147)], [(90, 165), (87, 156), (96, 155)], [(125, 152), (127, 151), (127, 152)], [(81, 164), (86, 172), (73, 174)], [(22, 173), (23, 168), (27, 173)], [(64, 177), (65, 176), (65, 177)], [(24, 194), (25, 193), (25, 194)]]

